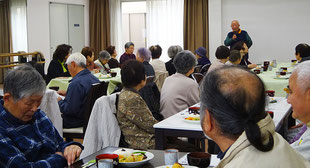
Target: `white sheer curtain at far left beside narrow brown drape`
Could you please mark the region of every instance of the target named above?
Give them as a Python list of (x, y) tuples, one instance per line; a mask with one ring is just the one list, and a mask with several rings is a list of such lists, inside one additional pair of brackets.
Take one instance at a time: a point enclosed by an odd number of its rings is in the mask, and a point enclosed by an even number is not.
[(10, 0), (10, 10), (13, 52), (28, 52), (26, 0)]

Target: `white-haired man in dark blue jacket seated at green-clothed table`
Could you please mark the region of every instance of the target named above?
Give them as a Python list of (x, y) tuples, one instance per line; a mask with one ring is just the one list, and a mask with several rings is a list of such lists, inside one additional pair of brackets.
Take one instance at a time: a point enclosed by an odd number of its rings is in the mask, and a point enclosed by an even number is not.
[(73, 78), (67, 92), (58, 91), (59, 94), (66, 96), (64, 100), (58, 97), (63, 127), (82, 127), (86, 96), (92, 84), (100, 83), (100, 81), (86, 68), (86, 58), (81, 53), (70, 55), (66, 64)]

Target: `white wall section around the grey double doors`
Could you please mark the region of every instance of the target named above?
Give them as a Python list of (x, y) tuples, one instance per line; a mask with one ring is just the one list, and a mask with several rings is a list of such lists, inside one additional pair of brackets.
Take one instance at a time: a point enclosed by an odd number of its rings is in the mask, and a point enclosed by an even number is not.
[(44, 54), (45, 69), (52, 58), (49, 35), (50, 2), (84, 5), (85, 45), (89, 46), (89, 0), (27, 0), (28, 51), (39, 50)]

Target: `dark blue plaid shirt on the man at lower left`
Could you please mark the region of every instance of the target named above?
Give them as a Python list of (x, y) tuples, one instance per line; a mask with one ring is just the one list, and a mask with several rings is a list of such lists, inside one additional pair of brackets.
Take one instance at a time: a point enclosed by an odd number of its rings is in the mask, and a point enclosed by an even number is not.
[(43, 111), (38, 109), (29, 122), (15, 118), (0, 101), (0, 167), (41, 168), (64, 167), (65, 142)]

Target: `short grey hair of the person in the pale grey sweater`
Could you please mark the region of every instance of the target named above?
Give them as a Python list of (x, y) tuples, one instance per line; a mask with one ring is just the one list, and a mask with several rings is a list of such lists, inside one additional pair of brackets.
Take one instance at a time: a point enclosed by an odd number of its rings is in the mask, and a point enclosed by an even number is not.
[(178, 73), (186, 74), (196, 65), (196, 57), (191, 51), (184, 50), (174, 57), (173, 64)]

